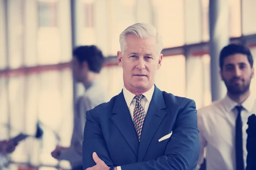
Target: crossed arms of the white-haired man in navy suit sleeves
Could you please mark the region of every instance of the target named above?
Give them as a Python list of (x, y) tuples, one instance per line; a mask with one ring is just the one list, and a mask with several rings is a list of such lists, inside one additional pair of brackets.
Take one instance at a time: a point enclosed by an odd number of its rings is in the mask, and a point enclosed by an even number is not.
[[(200, 142), (197, 129), (197, 111), (193, 100), (190, 100), (177, 116), (172, 139), (166, 146), (165, 154), (156, 160), (134, 164), (114, 164), (110, 158), (99, 122), (89, 111), (87, 111), (86, 118), (83, 142), (83, 168), (85, 170), (109, 170), (111, 166), (121, 166), (122, 170), (195, 169), (199, 157)], [(95, 154), (92, 156), (93, 152), (98, 153), (100, 159), (97, 159)], [(90, 169), (90, 167), (92, 168)]]

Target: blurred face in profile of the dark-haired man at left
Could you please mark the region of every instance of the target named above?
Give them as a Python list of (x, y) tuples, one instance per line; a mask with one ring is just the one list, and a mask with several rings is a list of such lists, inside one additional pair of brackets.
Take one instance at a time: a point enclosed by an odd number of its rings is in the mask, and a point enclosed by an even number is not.
[(83, 82), (85, 79), (85, 68), (84, 64), (80, 64), (76, 57), (71, 60), (71, 68), (73, 73), (73, 78), (76, 82)]

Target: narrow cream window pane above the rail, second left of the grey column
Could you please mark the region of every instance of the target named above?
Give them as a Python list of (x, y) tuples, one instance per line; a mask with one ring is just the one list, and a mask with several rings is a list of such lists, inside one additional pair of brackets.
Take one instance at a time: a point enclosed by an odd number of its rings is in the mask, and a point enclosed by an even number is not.
[(185, 0), (186, 43), (198, 43), (202, 40), (201, 0)]

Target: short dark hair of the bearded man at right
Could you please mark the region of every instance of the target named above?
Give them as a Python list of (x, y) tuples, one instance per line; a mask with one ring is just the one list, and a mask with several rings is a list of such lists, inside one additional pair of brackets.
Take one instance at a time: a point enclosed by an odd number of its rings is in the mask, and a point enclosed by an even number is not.
[(253, 56), (250, 52), (250, 49), (241, 44), (229, 44), (222, 48), (220, 53), (220, 68), (222, 70), (224, 65), (224, 60), (226, 57), (234, 54), (244, 54), (247, 56), (250, 66), (253, 67)]

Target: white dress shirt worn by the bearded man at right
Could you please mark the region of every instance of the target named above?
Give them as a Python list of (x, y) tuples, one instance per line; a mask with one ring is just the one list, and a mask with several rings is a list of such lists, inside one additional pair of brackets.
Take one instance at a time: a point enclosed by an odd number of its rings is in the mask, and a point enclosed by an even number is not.
[[(198, 129), (200, 137), (200, 156), (197, 170), (204, 161), (204, 151), (207, 160), (207, 170), (236, 170), (235, 127), (239, 105), (225, 96), (224, 99), (213, 102), (212, 105), (198, 110)], [(248, 117), (256, 113), (256, 100), (250, 95), (243, 103), (241, 111), (243, 133), (244, 169), (247, 158)]]

